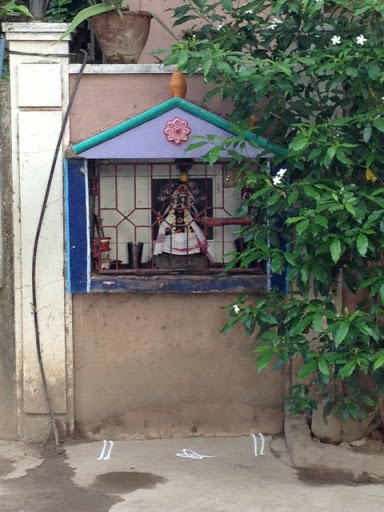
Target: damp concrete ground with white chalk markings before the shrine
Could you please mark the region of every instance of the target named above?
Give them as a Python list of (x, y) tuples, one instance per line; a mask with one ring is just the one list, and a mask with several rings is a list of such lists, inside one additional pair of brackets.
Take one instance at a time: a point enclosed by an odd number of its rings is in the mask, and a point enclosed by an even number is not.
[(62, 453), (2, 441), (0, 511), (383, 509), (384, 485), (352, 484), (343, 474), (297, 471), (282, 437), (266, 437), (263, 455), (262, 439), (256, 440), (257, 456), (253, 437), (71, 442)]

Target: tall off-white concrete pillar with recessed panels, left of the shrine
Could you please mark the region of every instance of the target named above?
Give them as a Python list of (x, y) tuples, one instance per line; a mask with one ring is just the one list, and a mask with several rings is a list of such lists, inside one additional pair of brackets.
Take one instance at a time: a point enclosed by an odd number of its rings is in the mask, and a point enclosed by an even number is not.
[[(4, 23), (10, 51), (14, 285), (18, 434), (43, 439), (51, 430), (38, 366), (32, 311), (32, 251), (43, 197), (68, 103), (66, 24)], [(12, 53), (15, 52), (15, 53)], [(17, 52), (17, 53), (16, 53)], [(64, 282), (63, 148), (61, 144), (37, 254), (37, 309), (48, 393), (64, 431), (73, 426), (72, 328)]]

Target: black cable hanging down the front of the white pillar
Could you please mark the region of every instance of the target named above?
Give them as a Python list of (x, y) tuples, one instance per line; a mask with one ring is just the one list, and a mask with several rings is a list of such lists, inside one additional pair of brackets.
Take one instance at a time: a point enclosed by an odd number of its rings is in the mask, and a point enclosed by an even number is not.
[(37, 225), (37, 230), (36, 230), (36, 235), (35, 235), (35, 242), (34, 242), (34, 245), (33, 245), (33, 253), (32, 253), (32, 308), (33, 308), (33, 320), (34, 320), (34, 325), (35, 325), (36, 354), (37, 354), (37, 360), (38, 360), (38, 363), (39, 363), (41, 380), (42, 380), (42, 384), (43, 384), (43, 388), (44, 388), (45, 398), (47, 400), (49, 416), (50, 416), (50, 419), (51, 419), (51, 425), (52, 425), (52, 430), (53, 430), (53, 434), (54, 434), (56, 445), (59, 444), (59, 432), (58, 432), (58, 429), (57, 429), (55, 413), (53, 411), (51, 399), (50, 399), (50, 396), (49, 396), (49, 393), (48, 393), (47, 379), (46, 379), (46, 376), (45, 376), (43, 357), (42, 357), (42, 353), (41, 353), (41, 343), (40, 343), (39, 315), (38, 315), (37, 294), (36, 294), (37, 249), (38, 249), (38, 246), (39, 246), (41, 228), (42, 228), (42, 225), (43, 225), (43, 222), (44, 222), (45, 210), (46, 210), (46, 207), (47, 207), (48, 197), (49, 197), (49, 193), (50, 193), (50, 190), (51, 190), (52, 180), (53, 180), (53, 176), (54, 176), (54, 173), (55, 173), (56, 162), (57, 162), (57, 158), (59, 156), (59, 151), (60, 151), (61, 143), (62, 143), (62, 140), (63, 140), (65, 127), (67, 125), (67, 121), (68, 121), (68, 118), (69, 118), (69, 113), (71, 111), (72, 104), (73, 104), (73, 101), (75, 99), (75, 95), (76, 95), (78, 86), (80, 84), (81, 77), (82, 77), (82, 75), (84, 73), (84, 68), (85, 68), (85, 66), (87, 64), (87, 61), (88, 61), (88, 54), (84, 50), (81, 50), (81, 51), (84, 53), (84, 58), (83, 58), (83, 62), (82, 62), (80, 71), (79, 71), (79, 73), (76, 76), (76, 82), (75, 82), (73, 91), (71, 93), (71, 96), (69, 98), (68, 106), (67, 106), (67, 109), (65, 111), (65, 115), (63, 117), (63, 121), (61, 123), (61, 130), (60, 130), (59, 138), (57, 140), (57, 144), (56, 144), (56, 148), (55, 148), (55, 153), (54, 153), (54, 156), (53, 156), (52, 165), (51, 165), (51, 169), (50, 169), (50, 172), (49, 172), (47, 187), (45, 189), (44, 200), (43, 200), (43, 204), (42, 204), (42, 207), (41, 207), (39, 222), (38, 222), (38, 225)]

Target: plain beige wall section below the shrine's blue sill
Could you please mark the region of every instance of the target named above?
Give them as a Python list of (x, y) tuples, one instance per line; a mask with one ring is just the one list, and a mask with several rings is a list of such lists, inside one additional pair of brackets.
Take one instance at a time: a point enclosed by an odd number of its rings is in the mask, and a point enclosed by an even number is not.
[(282, 431), (283, 378), (256, 371), (254, 345), (223, 295), (73, 297), (75, 417), (90, 438)]

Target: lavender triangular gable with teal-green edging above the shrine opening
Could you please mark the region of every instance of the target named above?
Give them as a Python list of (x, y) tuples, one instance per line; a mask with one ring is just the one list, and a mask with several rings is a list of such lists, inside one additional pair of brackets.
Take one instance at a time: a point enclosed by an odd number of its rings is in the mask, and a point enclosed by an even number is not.
[[(174, 144), (167, 140), (164, 127), (175, 117), (182, 118), (190, 129), (190, 136), (218, 135), (225, 139), (236, 135), (232, 123), (181, 98), (172, 98), (142, 114), (139, 114), (102, 133), (86, 139), (72, 147), (82, 158), (197, 158), (208, 151), (208, 146), (196, 150), (185, 149), (189, 142)], [(258, 148), (246, 143), (241, 151), (254, 157), (262, 151), (286, 156), (286, 150), (249, 132), (246, 140), (256, 143)], [(193, 141), (192, 141), (193, 142)], [(240, 152), (240, 150), (238, 150)], [(223, 152), (223, 158), (228, 154)]]

